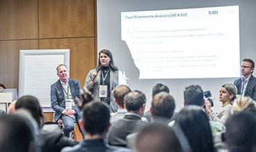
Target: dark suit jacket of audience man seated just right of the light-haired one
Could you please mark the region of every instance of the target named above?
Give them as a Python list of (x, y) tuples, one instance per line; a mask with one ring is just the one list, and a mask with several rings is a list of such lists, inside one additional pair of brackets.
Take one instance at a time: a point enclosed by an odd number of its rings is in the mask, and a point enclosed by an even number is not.
[(127, 146), (126, 137), (138, 132), (147, 122), (143, 122), (139, 116), (126, 114), (125, 118), (111, 124), (109, 129), (109, 144), (115, 146)]

